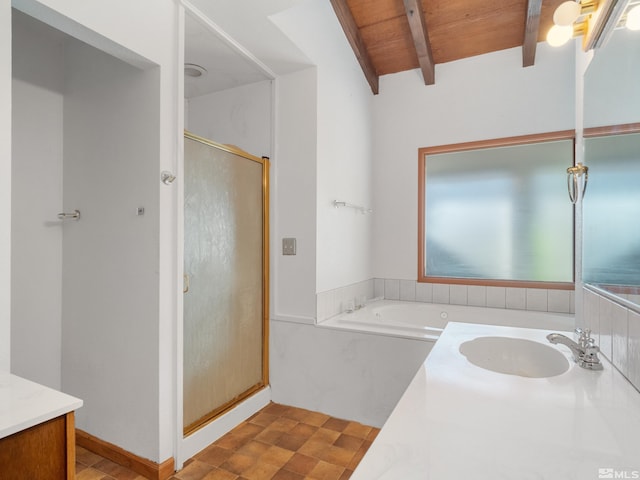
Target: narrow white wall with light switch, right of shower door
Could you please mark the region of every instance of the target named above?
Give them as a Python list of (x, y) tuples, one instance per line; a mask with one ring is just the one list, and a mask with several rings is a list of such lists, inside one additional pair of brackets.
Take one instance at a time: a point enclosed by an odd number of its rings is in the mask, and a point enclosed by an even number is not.
[[(276, 144), (272, 159), (272, 306), (275, 317), (313, 322), (316, 313), (317, 72), (276, 80)], [(297, 239), (295, 256), (282, 238)]]

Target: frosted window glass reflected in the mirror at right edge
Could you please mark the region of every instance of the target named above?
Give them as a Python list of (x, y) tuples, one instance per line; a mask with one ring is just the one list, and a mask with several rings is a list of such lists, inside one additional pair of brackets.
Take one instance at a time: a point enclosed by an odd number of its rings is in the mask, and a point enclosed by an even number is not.
[(639, 286), (640, 134), (585, 139), (585, 163), (584, 282)]

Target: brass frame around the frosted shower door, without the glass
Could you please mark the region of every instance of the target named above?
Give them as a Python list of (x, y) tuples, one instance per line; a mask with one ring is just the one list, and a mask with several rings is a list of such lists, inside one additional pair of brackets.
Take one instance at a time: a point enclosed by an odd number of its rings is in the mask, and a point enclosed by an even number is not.
[(216, 143), (187, 130), (184, 131), (184, 138), (262, 165), (262, 381), (190, 425), (184, 426), (183, 435), (186, 437), (269, 385), (269, 157), (256, 157), (234, 145)]

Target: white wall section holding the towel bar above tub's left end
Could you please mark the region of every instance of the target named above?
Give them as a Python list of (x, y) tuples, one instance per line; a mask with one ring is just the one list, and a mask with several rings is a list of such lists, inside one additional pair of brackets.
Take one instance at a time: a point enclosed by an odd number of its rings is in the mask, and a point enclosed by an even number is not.
[(279, 14), (278, 25), (317, 65), (316, 292), (321, 292), (371, 278), (372, 217), (336, 210), (332, 202), (368, 207), (373, 201), (372, 94), (329, 2), (305, 2)]

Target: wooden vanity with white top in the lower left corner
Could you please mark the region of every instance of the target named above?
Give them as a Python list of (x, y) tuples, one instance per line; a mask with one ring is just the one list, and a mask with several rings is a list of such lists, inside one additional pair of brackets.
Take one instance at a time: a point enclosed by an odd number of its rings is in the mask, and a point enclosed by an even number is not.
[(74, 411), (82, 400), (0, 373), (0, 476), (75, 478)]

